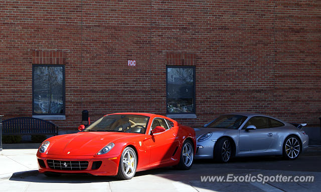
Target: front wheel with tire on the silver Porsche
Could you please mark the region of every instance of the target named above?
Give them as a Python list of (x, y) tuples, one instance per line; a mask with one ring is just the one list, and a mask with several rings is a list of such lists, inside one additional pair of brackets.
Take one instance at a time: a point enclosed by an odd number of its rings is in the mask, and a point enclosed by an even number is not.
[(215, 143), (214, 160), (220, 163), (227, 163), (234, 157), (234, 146), (230, 139), (221, 138)]

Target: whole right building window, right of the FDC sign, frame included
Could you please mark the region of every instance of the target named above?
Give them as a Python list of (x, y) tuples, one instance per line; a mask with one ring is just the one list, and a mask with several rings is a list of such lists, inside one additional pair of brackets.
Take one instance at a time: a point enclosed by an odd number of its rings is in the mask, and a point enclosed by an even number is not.
[(194, 66), (167, 66), (167, 113), (195, 114)]

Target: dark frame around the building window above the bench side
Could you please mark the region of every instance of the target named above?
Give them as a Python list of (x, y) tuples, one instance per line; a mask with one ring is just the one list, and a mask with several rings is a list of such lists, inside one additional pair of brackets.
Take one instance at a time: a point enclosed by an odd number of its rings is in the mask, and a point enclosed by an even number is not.
[[(62, 93), (62, 97), (63, 97), (63, 112), (62, 113), (35, 113), (34, 112), (34, 105), (35, 105), (35, 95), (34, 95), (34, 88), (35, 88), (35, 82), (34, 82), (34, 68), (35, 67), (62, 67), (62, 75), (63, 75), (63, 82), (62, 82), (62, 86), (63, 86), (63, 93)], [(65, 91), (65, 65), (46, 65), (46, 64), (33, 64), (32, 65), (32, 114), (33, 115), (65, 115), (66, 112), (66, 91)]]

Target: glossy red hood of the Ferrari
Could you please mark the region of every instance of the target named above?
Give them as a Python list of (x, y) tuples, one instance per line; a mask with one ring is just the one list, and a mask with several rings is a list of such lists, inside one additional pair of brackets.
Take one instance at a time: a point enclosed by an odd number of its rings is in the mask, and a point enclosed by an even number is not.
[(50, 141), (49, 155), (95, 155), (100, 149), (119, 138), (132, 137), (133, 133), (120, 132), (79, 132), (59, 135)]

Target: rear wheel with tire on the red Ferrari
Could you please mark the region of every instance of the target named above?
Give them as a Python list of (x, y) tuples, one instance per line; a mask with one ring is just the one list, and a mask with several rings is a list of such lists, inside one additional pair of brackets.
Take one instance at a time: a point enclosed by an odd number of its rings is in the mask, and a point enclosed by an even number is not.
[(190, 140), (185, 140), (182, 149), (180, 162), (175, 166), (177, 169), (188, 170), (192, 167), (194, 161), (194, 147)]

